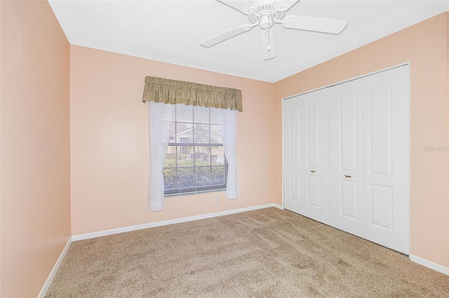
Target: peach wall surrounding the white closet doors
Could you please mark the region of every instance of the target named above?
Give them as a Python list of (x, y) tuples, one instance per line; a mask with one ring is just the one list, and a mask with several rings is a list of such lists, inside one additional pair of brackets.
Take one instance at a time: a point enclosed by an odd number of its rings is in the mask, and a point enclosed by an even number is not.
[(276, 203), (281, 203), (282, 100), (410, 62), (411, 254), (448, 267), (448, 13), (416, 24), (275, 83)]

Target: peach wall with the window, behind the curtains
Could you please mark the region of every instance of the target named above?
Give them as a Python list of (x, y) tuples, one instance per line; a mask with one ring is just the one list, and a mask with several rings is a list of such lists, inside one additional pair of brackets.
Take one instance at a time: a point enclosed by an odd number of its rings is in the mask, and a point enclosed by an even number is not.
[[(238, 88), (241, 197), (225, 192), (170, 197), (147, 206), (145, 76)], [(112, 52), (71, 46), (72, 235), (273, 202), (274, 85)], [(219, 197), (215, 204), (213, 198)]]

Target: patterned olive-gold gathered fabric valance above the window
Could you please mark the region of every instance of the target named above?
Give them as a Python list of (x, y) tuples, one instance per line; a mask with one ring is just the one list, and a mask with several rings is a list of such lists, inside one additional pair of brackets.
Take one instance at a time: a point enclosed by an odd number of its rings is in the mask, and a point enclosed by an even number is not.
[(241, 90), (153, 76), (145, 77), (142, 101), (242, 111)]

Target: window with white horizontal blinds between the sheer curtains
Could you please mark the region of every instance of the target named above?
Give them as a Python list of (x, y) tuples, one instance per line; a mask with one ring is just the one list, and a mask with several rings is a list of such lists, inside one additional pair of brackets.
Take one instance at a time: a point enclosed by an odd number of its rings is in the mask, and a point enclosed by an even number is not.
[[(172, 116), (171, 109), (167, 104), (164, 118)], [(164, 196), (226, 190), (228, 164), (219, 118), (215, 108), (175, 105), (162, 171)]]

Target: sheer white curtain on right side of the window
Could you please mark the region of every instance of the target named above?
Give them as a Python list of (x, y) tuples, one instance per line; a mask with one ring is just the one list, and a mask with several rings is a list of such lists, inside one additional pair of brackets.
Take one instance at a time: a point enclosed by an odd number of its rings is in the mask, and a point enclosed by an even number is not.
[(223, 148), (227, 159), (227, 187), (226, 198), (237, 199), (240, 197), (239, 184), (237, 183), (237, 115), (239, 111), (230, 108), (217, 108), (220, 113), (222, 132), (223, 132)]

